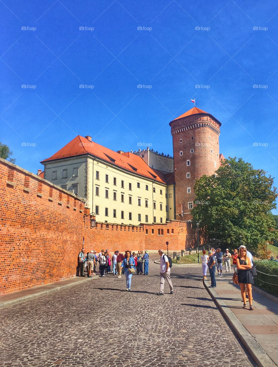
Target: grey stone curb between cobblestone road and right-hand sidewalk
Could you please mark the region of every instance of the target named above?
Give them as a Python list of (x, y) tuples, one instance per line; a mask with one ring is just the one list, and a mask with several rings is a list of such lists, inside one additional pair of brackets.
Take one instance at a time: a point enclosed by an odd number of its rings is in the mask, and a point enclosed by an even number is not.
[(235, 333), (238, 335), (242, 344), (248, 350), (253, 360), (259, 367), (277, 367), (277, 364), (272, 361), (270, 356), (261, 348), (259, 343), (255, 341), (255, 338), (249, 333), (249, 331), (242, 325), (242, 323), (237, 319), (235, 314), (227, 307), (226, 303), (219, 297), (213, 288), (208, 288), (208, 280), (203, 279), (204, 286), (209, 292), (220, 311), (227, 319), (228, 323), (231, 325)]

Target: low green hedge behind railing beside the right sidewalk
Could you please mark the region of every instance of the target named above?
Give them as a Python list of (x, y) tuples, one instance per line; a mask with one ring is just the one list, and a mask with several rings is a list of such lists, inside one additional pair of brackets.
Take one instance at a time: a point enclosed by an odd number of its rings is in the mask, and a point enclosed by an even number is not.
[[(258, 287), (264, 291), (278, 296), (278, 262), (270, 260), (256, 260), (257, 279), (255, 283)], [(261, 274), (259, 272), (268, 274)], [(277, 275), (277, 276), (270, 276)], [(271, 284), (269, 284), (271, 283)]]

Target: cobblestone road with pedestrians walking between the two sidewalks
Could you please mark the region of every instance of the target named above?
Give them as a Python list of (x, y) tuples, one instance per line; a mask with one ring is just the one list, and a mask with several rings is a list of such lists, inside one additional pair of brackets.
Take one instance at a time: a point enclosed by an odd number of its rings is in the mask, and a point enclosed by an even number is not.
[[(202, 284), (172, 269), (174, 294), (149, 276), (106, 276), (0, 311), (1, 366), (252, 366)], [(218, 325), (219, 327), (216, 327)]]

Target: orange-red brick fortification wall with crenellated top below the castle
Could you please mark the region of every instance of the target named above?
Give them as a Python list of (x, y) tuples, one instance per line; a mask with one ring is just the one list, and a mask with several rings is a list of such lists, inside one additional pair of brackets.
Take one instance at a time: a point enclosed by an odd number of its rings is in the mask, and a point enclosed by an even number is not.
[(0, 158), (0, 294), (75, 276), (83, 237), (86, 251), (195, 246), (190, 223), (90, 228), (84, 214), (82, 199)]

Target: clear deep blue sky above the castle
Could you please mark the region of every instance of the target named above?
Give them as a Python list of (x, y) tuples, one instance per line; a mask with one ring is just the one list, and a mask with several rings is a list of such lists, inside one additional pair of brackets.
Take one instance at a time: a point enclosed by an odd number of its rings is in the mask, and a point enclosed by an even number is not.
[(195, 97), (222, 122), (220, 153), (278, 177), (276, 2), (4, 0), (0, 11), (0, 141), (19, 166), (36, 173), (78, 134), (172, 155), (169, 121)]

